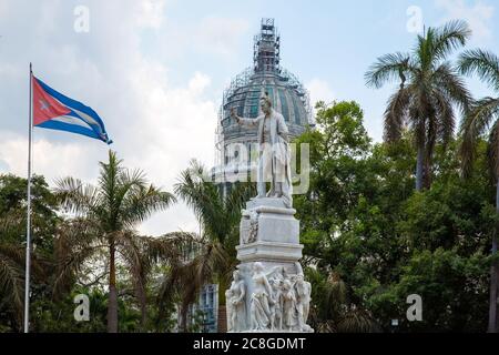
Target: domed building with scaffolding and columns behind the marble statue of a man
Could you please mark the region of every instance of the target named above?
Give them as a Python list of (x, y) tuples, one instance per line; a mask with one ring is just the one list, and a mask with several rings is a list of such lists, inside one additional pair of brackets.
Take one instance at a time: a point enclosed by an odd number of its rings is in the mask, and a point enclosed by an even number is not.
[(293, 73), (281, 67), (281, 37), (274, 19), (262, 19), (261, 32), (254, 38), (253, 67), (236, 75), (223, 94), (213, 178), (225, 187), (256, 171), (256, 130), (238, 125), (231, 118), (231, 110), (255, 119), (262, 113), (259, 99), (265, 93), (274, 110), (283, 114), (291, 139), (313, 125), (308, 92)]

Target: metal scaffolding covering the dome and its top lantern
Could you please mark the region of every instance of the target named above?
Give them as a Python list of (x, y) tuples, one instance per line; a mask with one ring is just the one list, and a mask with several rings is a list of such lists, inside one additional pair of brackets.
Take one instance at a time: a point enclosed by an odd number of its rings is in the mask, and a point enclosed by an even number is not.
[(223, 92), (215, 132), (215, 166), (224, 165), (224, 146), (228, 142), (248, 143), (254, 139), (230, 114), (234, 108), (241, 116), (256, 118), (262, 92), (268, 91), (276, 109), (287, 118), (292, 136), (304, 132), (306, 125), (314, 125), (308, 91), (295, 74), (281, 67), (281, 36), (274, 19), (262, 19), (253, 50), (253, 67), (235, 75)]

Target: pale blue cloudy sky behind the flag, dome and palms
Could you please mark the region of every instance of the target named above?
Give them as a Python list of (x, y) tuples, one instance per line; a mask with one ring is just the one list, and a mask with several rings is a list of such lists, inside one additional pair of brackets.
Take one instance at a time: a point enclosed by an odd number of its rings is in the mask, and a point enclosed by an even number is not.
[[(0, 0), (0, 173), (27, 175), (29, 63), (50, 87), (92, 106), (124, 165), (173, 191), (191, 159), (214, 163), (217, 111), (231, 79), (252, 65), (262, 18), (281, 33), (282, 65), (312, 101), (355, 100), (375, 141), (395, 88), (366, 88), (385, 53), (408, 51), (421, 26), (468, 21), (468, 48), (499, 53), (499, 0), (194, 1)], [(477, 97), (491, 94), (468, 80)], [(95, 183), (108, 146), (34, 129), (33, 171)], [(198, 231), (183, 203), (139, 226), (147, 235)]]

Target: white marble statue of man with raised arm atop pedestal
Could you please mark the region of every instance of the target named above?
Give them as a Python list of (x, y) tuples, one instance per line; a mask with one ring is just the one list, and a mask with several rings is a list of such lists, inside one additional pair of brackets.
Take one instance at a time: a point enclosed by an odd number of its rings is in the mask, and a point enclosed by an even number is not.
[[(238, 124), (258, 129), (257, 197), (281, 197), (284, 204), (291, 209), (293, 200), (287, 126), (284, 116), (272, 108), (268, 95), (261, 99), (261, 108), (263, 114), (256, 119), (240, 118), (234, 108), (231, 110), (231, 116)], [(271, 190), (267, 194), (266, 182), (271, 182)]]

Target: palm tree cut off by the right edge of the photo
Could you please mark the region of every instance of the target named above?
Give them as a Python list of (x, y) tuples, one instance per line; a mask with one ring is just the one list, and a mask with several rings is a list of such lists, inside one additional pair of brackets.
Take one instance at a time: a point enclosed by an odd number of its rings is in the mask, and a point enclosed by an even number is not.
[[(496, 93), (496, 98), (483, 98), (473, 102), (462, 123), (462, 143), (460, 155), (462, 170), (468, 175), (476, 155), (476, 145), (480, 136), (489, 131), (488, 162), (491, 175), (496, 180), (496, 209), (499, 212), (499, 57), (483, 50), (466, 51), (459, 58), (459, 69), (464, 74), (477, 74)], [(490, 128), (491, 126), (491, 128)], [(490, 128), (490, 130), (489, 130)], [(492, 236), (492, 255), (497, 253), (497, 229)], [(489, 332), (497, 332), (497, 294), (499, 270), (497, 263), (490, 275)]]

